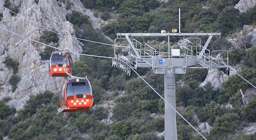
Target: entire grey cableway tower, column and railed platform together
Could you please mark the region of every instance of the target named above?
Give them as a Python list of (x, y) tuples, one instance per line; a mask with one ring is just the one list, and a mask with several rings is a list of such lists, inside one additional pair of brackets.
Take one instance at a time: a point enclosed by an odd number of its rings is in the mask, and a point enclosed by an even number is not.
[[(175, 109), (175, 74), (185, 74), (187, 68), (206, 68), (218, 69), (229, 75), (229, 68), (227, 50), (208, 49), (212, 37), (220, 37), (220, 33), (176, 33), (176, 29), (172, 31), (117, 33), (112, 66), (129, 75), (132, 73), (131, 68), (152, 68), (154, 74), (163, 74), (164, 98)], [(170, 46), (170, 37), (179, 38), (177, 45)], [(206, 38), (204, 44), (201, 42), (203, 37)], [(150, 43), (145, 42), (146, 38), (164, 38), (167, 51), (152, 40)], [(165, 140), (177, 140), (176, 112), (166, 103), (164, 130)]]

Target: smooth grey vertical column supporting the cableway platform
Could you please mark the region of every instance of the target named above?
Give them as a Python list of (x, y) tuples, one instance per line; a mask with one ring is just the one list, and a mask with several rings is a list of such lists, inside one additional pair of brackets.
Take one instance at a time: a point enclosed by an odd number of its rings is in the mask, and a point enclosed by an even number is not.
[[(175, 69), (165, 68), (164, 99), (175, 109)], [(164, 103), (164, 140), (177, 140), (176, 112)]]

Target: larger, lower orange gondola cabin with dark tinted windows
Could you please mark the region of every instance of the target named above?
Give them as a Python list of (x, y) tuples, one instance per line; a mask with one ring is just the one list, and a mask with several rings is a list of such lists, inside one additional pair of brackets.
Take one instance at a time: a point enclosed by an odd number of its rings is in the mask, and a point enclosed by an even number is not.
[(60, 90), (62, 112), (90, 110), (92, 104), (92, 88), (87, 77), (64, 81)]

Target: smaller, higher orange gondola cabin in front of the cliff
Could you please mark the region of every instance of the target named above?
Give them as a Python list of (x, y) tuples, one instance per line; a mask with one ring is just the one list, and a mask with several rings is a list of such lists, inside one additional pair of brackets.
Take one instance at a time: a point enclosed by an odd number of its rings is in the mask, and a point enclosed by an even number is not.
[(72, 74), (72, 58), (70, 53), (52, 53), (50, 62), (49, 62), (49, 75), (52, 77), (67, 77), (64, 68), (66, 64), (66, 71), (69, 74)]

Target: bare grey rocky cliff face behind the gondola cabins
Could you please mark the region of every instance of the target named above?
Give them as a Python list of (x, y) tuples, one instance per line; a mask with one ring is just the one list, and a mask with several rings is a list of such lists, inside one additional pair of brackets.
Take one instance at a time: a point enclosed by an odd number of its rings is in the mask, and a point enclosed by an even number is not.
[[(41, 60), (40, 52), (45, 45), (36, 43), (43, 31), (54, 28), (57, 32), (68, 32), (74, 36), (74, 27), (66, 21), (65, 15), (71, 10), (86, 13), (80, 0), (70, 0), (71, 7), (67, 10), (62, 1), (56, 0), (10, 0), (11, 5), (18, 8), (18, 15), (10, 14), (3, 8), (4, 0), (0, 0), (0, 13), (3, 14), (0, 27), (11, 32), (0, 29), (0, 100), (10, 98), (8, 105), (21, 109), (30, 95), (35, 95), (46, 90), (58, 92), (64, 78), (50, 77), (48, 74), (49, 60)], [(75, 53), (82, 52), (80, 43), (76, 39), (67, 37), (66, 45), (64, 36), (59, 35), (60, 49), (67, 49)], [(12, 92), (12, 86), (8, 82), (13, 75), (12, 68), (4, 64), (4, 60), (12, 58), (19, 62), (18, 73), (21, 80), (16, 90)], [(72, 56), (74, 60), (79, 56)]]

